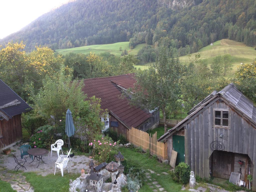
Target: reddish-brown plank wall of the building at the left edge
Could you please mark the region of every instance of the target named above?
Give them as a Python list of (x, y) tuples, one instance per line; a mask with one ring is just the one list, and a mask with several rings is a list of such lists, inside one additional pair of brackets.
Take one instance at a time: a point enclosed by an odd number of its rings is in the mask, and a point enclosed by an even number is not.
[(0, 138), (0, 148), (20, 140), (22, 138), (21, 115), (15, 115), (9, 121), (1, 120), (0, 129), (3, 135)]

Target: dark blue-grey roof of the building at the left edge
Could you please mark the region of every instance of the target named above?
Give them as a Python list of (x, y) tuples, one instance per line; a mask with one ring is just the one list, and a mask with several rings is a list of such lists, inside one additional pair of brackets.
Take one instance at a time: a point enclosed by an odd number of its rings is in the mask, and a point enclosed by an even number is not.
[[(30, 111), (32, 108), (0, 79), (0, 119), (12, 119), (12, 116)], [(8, 103), (10, 106), (6, 105)], [(4, 115), (3, 115), (4, 114)], [(8, 120), (6, 119), (6, 120)]]

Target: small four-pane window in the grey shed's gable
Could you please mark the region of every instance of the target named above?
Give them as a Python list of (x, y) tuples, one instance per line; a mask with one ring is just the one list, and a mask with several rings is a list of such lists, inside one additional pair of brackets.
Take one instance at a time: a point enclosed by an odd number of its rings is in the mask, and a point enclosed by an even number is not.
[(227, 109), (214, 109), (214, 120), (213, 124), (215, 127), (229, 128), (230, 126), (230, 112)]

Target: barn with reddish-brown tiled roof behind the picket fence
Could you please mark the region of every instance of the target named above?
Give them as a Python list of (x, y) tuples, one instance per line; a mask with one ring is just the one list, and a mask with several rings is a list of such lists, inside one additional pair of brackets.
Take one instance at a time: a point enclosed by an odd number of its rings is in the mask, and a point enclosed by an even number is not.
[(135, 82), (134, 74), (84, 80), (83, 91), (88, 98), (94, 95), (100, 98), (101, 108), (109, 111), (108, 118), (102, 118), (105, 127), (109, 127), (119, 135), (126, 136), (127, 130), (132, 127), (147, 131), (159, 124), (158, 109), (147, 110), (140, 106), (132, 106), (129, 103), (129, 96), (122, 96), (128, 88), (133, 88)]

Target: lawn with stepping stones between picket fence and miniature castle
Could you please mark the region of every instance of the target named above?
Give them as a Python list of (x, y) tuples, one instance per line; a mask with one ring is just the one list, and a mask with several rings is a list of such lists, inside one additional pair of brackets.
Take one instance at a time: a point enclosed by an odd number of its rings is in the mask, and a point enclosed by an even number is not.
[[(162, 164), (158, 162), (157, 160), (153, 158), (148, 158), (148, 156), (145, 153), (138, 153), (135, 151), (135, 149), (120, 147), (120, 152), (122, 155), (127, 158), (128, 161), (132, 161), (134, 164), (139, 165), (144, 170), (148, 172), (147, 169), (151, 169), (155, 172), (155, 174), (151, 174), (151, 179), (155, 179), (159, 185), (161, 185), (165, 191), (169, 192), (176, 192), (180, 191), (182, 185), (175, 183), (170, 175), (164, 175), (162, 172), (168, 172), (170, 169), (169, 165)], [(160, 174), (160, 176), (157, 176), (157, 174)], [(149, 192), (153, 191), (154, 188), (150, 188), (148, 183), (151, 183), (152, 181), (147, 180), (145, 184), (142, 186), (142, 188), (139, 190), (140, 192)], [(187, 190), (184, 190), (187, 191)]]

